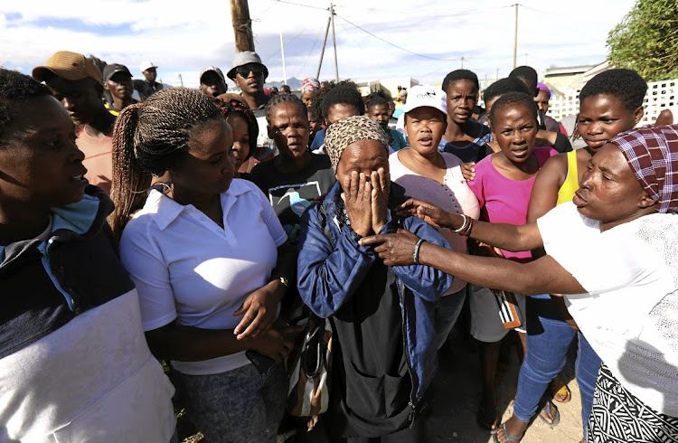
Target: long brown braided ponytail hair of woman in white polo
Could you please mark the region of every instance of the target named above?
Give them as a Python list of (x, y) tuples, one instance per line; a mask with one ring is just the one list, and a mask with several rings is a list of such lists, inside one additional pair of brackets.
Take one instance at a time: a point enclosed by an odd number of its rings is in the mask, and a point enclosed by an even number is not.
[(113, 184), (116, 208), (108, 217), (119, 239), (132, 212), (146, 201), (153, 175), (174, 169), (188, 151), (193, 127), (223, 118), (212, 99), (197, 90), (160, 90), (123, 109), (113, 128)]

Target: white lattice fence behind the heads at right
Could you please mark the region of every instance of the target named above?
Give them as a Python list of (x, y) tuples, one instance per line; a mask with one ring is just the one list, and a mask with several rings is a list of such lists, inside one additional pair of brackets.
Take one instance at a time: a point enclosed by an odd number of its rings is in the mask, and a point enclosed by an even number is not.
[[(678, 79), (647, 83), (647, 94), (643, 100), (645, 115), (638, 124), (650, 125), (665, 108), (673, 108), (673, 122), (678, 121)], [(579, 90), (551, 97), (548, 115), (556, 120), (579, 112)]]

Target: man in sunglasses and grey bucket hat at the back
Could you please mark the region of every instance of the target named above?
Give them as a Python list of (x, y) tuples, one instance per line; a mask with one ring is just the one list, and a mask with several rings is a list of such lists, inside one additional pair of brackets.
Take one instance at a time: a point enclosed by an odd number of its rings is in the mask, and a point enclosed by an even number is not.
[(273, 158), (275, 143), (268, 137), (266, 105), (270, 96), (264, 92), (264, 82), (268, 77), (268, 68), (261, 62), (257, 52), (243, 51), (235, 54), (233, 67), (227, 76), (240, 88), (242, 99), (248, 104), (259, 124), (257, 152), (254, 157), (259, 162)]

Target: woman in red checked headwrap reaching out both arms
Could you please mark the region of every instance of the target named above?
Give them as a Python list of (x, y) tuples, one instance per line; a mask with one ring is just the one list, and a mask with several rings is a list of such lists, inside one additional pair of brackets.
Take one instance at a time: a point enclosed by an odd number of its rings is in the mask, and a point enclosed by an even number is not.
[(543, 246), (546, 256), (520, 264), (404, 231), (361, 240), (382, 243), (375, 251), (388, 266), (417, 262), (480, 286), (565, 294), (603, 361), (587, 441), (678, 440), (677, 125), (613, 138), (591, 158), (573, 202), (527, 225), (471, 221), (414, 200), (401, 208), (504, 250)]

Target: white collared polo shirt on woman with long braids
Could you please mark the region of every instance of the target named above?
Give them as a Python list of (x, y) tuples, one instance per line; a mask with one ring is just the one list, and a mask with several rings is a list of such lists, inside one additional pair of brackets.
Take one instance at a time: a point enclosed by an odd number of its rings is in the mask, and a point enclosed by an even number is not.
[[(137, 285), (145, 331), (176, 320), (202, 329), (232, 329), (245, 298), (268, 283), (287, 240), (259, 188), (234, 179), (221, 194), (224, 228), (193, 205), (152, 191), (127, 223), (120, 259)], [(203, 375), (250, 363), (244, 352), (202, 362), (173, 362), (179, 372)]]

